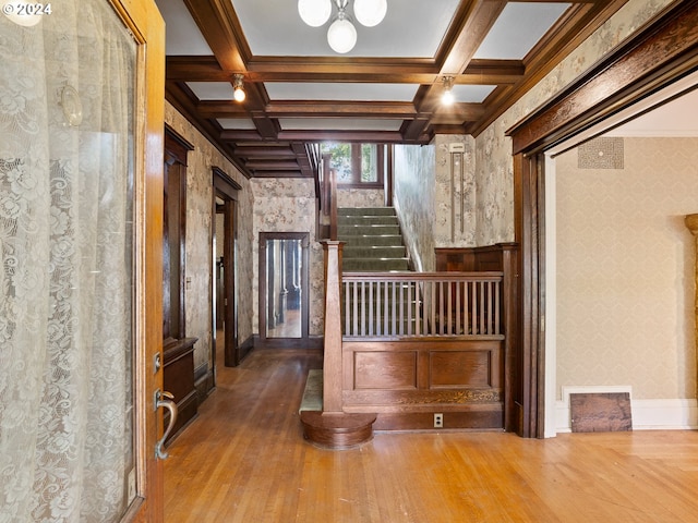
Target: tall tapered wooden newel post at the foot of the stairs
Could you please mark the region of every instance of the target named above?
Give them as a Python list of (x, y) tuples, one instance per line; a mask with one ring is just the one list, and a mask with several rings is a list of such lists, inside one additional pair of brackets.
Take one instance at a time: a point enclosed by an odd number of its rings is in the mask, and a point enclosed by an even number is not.
[(325, 353), (323, 413), (342, 412), (341, 401), (341, 250), (345, 242), (324, 240)]

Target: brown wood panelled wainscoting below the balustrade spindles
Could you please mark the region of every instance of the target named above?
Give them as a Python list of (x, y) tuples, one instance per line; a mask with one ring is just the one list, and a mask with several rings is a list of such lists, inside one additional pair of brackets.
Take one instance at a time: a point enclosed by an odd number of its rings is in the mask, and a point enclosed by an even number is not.
[(376, 430), (504, 427), (504, 337), (345, 341), (342, 357), (345, 412)]

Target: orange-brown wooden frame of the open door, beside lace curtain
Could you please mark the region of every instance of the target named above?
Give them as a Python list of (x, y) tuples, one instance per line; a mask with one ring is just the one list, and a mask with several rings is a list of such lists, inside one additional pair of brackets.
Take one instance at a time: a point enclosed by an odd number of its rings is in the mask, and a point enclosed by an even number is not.
[(152, 0), (109, 0), (137, 42), (135, 157), (136, 498), (124, 521), (163, 521), (163, 156), (165, 23)]

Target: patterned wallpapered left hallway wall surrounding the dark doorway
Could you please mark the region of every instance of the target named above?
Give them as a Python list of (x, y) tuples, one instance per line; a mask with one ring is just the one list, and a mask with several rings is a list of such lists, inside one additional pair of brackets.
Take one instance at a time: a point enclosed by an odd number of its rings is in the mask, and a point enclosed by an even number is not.
[[(186, 336), (198, 338), (194, 351), (194, 367), (208, 364), (212, 358), (212, 167), (220, 168), (238, 182), (238, 339), (240, 343), (252, 336), (252, 208), (250, 182), (220, 155), (170, 104), (165, 104), (165, 122), (194, 146), (186, 166), (186, 278), (191, 283), (185, 293)], [(254, 307), (256, 308), (256, 307)]]

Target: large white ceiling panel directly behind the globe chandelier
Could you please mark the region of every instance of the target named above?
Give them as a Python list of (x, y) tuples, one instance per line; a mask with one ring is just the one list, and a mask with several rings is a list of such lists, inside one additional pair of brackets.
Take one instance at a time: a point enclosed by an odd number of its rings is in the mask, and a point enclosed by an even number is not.
[[(310, 27), (296, 0), (231, 0), (254, 56), (336, 57), (327, 45), (327, 22)], [(357, 46), (346, 57), (433, 58), (459, 0), (399, 0), (375, 27), (354, 23)], [(336, 12), (336, 8), (334, 13)], [(333, 15), (334, 15), (333, 13)], [(351, 13), (351, 9), (349, 9)], [(429, 27), (429, 31), (424, 31)], [(273, 37), (270, 37), (273, 35)]]

